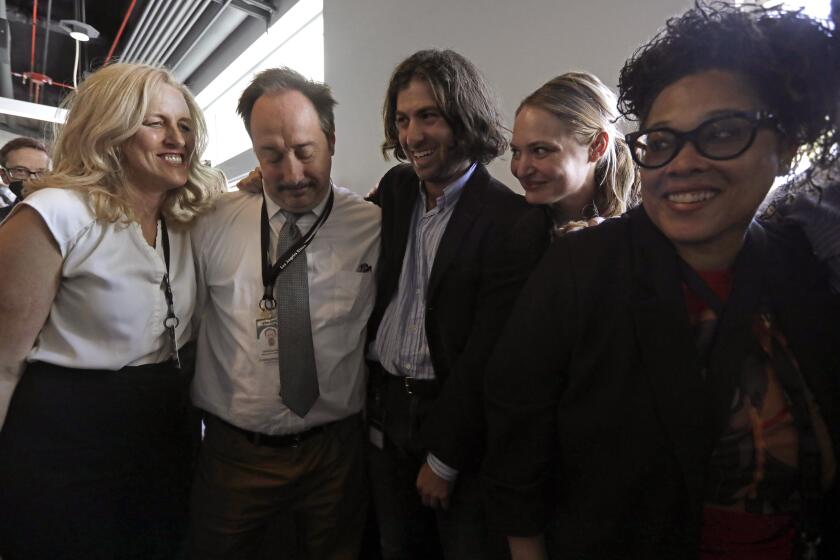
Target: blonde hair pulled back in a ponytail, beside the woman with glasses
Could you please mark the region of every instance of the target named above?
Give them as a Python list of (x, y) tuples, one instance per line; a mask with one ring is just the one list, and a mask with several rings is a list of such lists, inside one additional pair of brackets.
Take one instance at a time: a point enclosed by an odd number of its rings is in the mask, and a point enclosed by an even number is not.
[(607, 133), (607, 149), (595, 166), (593, 215), (619, 216), (638, 202), (638, 170), (615, 125), (616, 97), (601, 80), (588, 72), (557, 76), (526, 97), (516, 114), (526, 106), (556, 116), (586, 145), (592, 144), (602, 131)]

